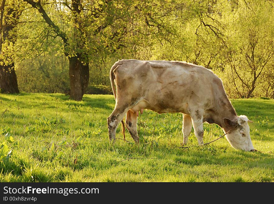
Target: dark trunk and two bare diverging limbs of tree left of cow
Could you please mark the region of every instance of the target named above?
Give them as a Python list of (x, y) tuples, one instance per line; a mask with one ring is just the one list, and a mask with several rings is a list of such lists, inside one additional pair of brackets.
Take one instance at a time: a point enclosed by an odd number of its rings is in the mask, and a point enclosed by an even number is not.
[[(53, 31), (60, 36), (64, 42), (64, 54), (65, 56), (69, 56), (70, 53), (74, 53), (71, 49), (71, 45), (69, 44), (69, 39), (66, 33), (58, 26), (54, 24), (54, 22), (50, 19), (50, 17), (45, 12), (43, 6), (41, 5), (41, 1), (34, 0), (23, 0), (24, 2), (29, 3), (33, 8), (37, 9), (38, 12), (42, 15), (45, 22), (53, 29)], [(68, 5), (67, 5), (68, 6)], [(69, 7), (70, 8), (70, 7)], [(74, 25), (74, 40), (78, 40), (77, 50), (83, 50), (83, 46), (85, 42), (81, 42), (82, 34), (84, 34), (83, 25), (82, 25), (82, 16), (80, 15), (81, 9), (83, 9), (80, 0), (71, 1), (71, 8), (73, 14), (73, 25)], [(79, 32), (80, 29), (80, 32)], [(71, 35), (71, 34), (69, 34)], [(81, 46), (82, 45), (82, 46)], [(73, 46), (74, 47), (74, 46)], [(70, 98), (76, 101), (81, 101), (84, 93), (86, 92), (88, 81), (89, 81), (89, 66), (88, 66), (88, 55), (87, 53), (77, 53), (74, 57), (69, 58), (69, 81), (70, 81)]]

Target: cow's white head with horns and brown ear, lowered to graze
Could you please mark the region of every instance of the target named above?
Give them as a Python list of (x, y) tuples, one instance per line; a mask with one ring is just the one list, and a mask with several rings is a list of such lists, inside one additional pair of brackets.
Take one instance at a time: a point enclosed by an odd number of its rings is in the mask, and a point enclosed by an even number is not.
[(253, 147), (249, 134), (247, 116), (240, 115), (238, 119), (231, 121), (228, 118), (224, 118), (224, 124), (231, 129), (228, 134), (225, 135), (230, 145), (235, 149), (243, 149), (245, 151), (256, 151)]

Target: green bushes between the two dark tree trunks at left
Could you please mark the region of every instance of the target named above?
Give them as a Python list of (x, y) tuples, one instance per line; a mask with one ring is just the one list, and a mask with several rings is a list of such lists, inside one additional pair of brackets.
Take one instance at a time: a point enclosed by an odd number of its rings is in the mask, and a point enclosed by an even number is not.
[[(16, 74), (22, 92), (69, 93), (69, 62), (51, 51), (17, 64)], [(31, 74), (29, 74), (31, 73)]]

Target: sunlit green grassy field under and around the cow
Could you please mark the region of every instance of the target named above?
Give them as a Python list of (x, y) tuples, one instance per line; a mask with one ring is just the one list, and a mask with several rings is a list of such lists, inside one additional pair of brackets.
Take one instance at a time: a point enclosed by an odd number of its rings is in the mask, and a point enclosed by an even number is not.
[[(140, 144), (108, 139), (111, 95), (0, 94), (1, 182), (274, 182), (274, 100), (231, 100), (246, 115), (255, 149), (233, 149), (225, 138), (181, 148), (182, 114), (145, 110)], [(204, 124), (204, 142), (223, 134)], [(121, 126), (116, 137), (123, 138)], [(197, 145), (191, 131), (189, 145)]]

